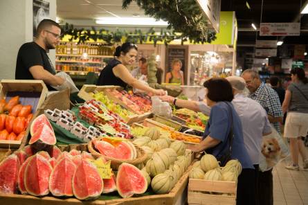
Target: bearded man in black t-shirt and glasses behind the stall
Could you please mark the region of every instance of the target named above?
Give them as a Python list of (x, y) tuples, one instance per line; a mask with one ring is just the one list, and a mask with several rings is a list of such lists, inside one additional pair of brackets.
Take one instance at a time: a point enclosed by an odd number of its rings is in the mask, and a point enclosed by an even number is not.
[(37, 26), (34, 42), (23, 44), (18, 51), (15, 79), (43, 80), (49, 90), (59, 86), (64, 79), (55, 76), (55, 69), (46, 51), (55, 49), (60, 41), (60, 25), (51, 19), (42, 20)]

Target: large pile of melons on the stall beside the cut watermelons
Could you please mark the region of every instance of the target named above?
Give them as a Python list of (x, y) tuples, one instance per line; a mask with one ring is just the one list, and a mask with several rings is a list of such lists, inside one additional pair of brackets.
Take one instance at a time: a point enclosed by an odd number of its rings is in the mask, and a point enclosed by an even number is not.
[(147, 153), (147, 159), (138, 168), (141, 168), (154, 193), (169, 193), (190, 166), (192, 152), (185, 150), (182, 141), (171, 142), (168, 136), (161, 135), (155, 128), (148, 129), (145, 135), (133, 141)]

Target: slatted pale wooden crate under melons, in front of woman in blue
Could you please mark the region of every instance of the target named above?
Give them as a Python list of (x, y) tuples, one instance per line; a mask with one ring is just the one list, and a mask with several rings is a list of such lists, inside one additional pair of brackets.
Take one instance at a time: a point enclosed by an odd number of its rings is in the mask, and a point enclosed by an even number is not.
[(237, 185), (234, 181), (189, 179), (188, 204), (235, 205)]

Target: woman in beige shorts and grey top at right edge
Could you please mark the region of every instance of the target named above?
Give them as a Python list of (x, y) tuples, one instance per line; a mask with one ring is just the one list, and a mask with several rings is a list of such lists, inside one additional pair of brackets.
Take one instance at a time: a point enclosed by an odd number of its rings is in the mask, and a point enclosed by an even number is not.
[(290, 139), (290, 152), (292, 163), (286, 166), (289, 170), (299, 170), (298, 155), (302, 157), (303, 169), (308, 170), (308, 155), (302, 136), (307, 137), (308, 132), (308, 79), (304, 69), (291, 70), (292, 83), (286, 91), (282, 103), (282, 111), (287, 112), (284, 125), (284, 137)]

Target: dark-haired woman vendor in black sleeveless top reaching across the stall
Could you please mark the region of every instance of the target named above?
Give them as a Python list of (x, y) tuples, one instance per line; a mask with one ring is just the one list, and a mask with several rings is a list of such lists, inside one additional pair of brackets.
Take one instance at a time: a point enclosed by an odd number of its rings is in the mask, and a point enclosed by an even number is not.
[(135, 62), (137, 56), (137, 46), (126, 42), (122, 46), (116, 47), (114, 60), (111, 60), (102, 71), (98, 78), (98, 85), (118, 85), (126, 88), (128, 85), (134, 89), (140, 89), (146, 93), (152, 93), (157, 96), (165, 95), (162, 89), (153, 89), (143, 82), (137, 80), (129, 73), (126, 66)]

